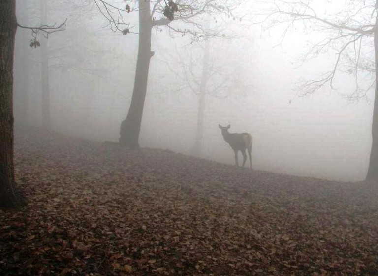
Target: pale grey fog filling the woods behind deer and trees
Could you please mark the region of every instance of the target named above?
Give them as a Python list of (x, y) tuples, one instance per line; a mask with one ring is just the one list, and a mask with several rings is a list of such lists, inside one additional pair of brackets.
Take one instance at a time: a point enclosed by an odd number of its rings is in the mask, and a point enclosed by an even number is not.
[[(323, 4), (329, 9), (336, 5), (327, 2)], [(321, 7), (324, 5), (317, 8)], [(252, 12), (252, 5), (250, 8)], [(19, 23), (40, 25), (40, 10), (39, 0), (18, 1)], [(48, 23), (67, 18), (65, 31), (38, 38), (41, 44), (48, 42), (52, 129), (93, 141), (118, 141), (133, 91), (138, 35), (112, 32), (92, 1), (49, 1), (47, 14)], [(298, 82), (330, 70), (335, 54), (329, 51), (301, 65), (308, 45), (321, 38), (321, 33), (294, 28), (282, 40), (284, 27), (264, 30), (252, 24), (248, 14), (243, 22), (220, 21), (225, 36), (210, 39), (209, 63), (215, 73), (207, 83), (211, 93), (206, 95), (200, 157), (234, 164), (233, 151), (218, 128), (218, 124), (230, 124), (231, 133), (251, 133), (255, 170), (363, 180), (371, 149), (374, 91), (359, 100), (350, 99), (355, 79), (340, 73), (333, 89), (327, 84), (311, 95), (298, 93)], [(125, 20), (135, 25), (131, 31), (137, 32), (137, 14)], [(215, 27), (218, 22), (211, 24)], [(29, 47), (31, 39), (30, 30), (18, 29), (16, 127), (25, 123), (25, 112), (27, 124), (42, 126), (42, 47)], [(141, 147), (191, 154), (199, 98), (190, 89), (190, 76), (200, 77), (203, 48), (203, 41), (192, 42), (189, 35), (181, 37), (164, 27), (153, 30), (155, 55), (150, 64)], [(194, 72), (189, 77), (183, 75), (186, 65)], [(361, 81), (369, 86), (372, 79)]]

